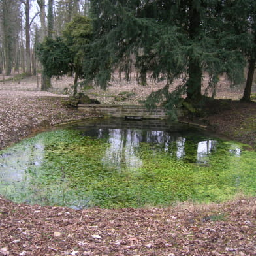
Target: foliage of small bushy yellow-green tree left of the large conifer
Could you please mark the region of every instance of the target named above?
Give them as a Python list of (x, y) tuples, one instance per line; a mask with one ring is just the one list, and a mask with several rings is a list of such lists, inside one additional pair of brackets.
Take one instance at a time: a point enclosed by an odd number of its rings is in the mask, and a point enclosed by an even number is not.
[(66, 24), (63, 37), (56, 39), (46, 37), (37, 50), (44, 73), (51, 77), (74, 72), (76, 74), (74, 86), (76, 86), (78, 78), (84, 76), (82, 63), (85, 48), (91, 40), (91, 33), (91, 20), (85, 16), (75, 16)]

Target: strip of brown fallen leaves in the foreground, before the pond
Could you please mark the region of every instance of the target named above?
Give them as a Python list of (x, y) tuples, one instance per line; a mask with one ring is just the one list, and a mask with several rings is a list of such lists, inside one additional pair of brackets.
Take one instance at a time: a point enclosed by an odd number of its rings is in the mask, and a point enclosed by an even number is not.
[(79, 211), (0, 199), (0, 255), (252, 256), (255, 218), (256, 199)]

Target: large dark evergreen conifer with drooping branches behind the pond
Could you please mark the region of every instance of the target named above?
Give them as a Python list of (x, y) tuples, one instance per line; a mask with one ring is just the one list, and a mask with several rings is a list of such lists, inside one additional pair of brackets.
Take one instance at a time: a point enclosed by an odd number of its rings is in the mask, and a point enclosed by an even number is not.
[[(224, 9), (225, 1), (218, 0), (92, 0), (95, 40), (86, 78), (106, 88), (116, 67), (135, 56), (139, 72), (167, 80), (165, 88), (150, 95), (150, 106), (165, 101), (166, 108), (173, 108), (184, 92), (197, 102), (204, 74), (210, 76), (209, 86), (224, 72), (232, 81), (242, 74), (244, 56), (230, 44)], [(131, 71), (131, 65), (123, 67)], [(181, 77), (183, 82), (169, 93)]]

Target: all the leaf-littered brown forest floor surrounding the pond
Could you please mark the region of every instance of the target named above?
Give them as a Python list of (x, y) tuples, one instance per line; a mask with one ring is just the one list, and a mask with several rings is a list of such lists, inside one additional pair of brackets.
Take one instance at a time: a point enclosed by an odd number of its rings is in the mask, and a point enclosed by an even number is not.
[[(135, 79), (134, 79), (135, 80)], [(65, 108), (71, 78), (40, 91), (37, 78), (0, 82), (0, 149), (52, 125), (90, 118)], [(142, 87), (117, 78), (106, 91), (85, 93), (103, 104), (138, 104), (163, 84)], [(253, 88), (255, 93), (256, 88)], [(133, 92), (129, 99), (116, 97)], [(222, 80), (206, 115), (186, 120), (256, 148), (256, 103)], [(14, 204), (0, 197), (0, 255), (256, 255), (256, 198), (223, 204), (184, 202), (168, 208), (72, 210)]]

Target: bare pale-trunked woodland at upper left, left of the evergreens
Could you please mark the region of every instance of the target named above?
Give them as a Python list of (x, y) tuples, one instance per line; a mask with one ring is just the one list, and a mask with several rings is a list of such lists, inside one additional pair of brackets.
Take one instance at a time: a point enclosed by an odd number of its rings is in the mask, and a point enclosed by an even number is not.
[(38, 43), (61, 35), (76, 14), (88, 14), (88, 6), (89, 0), (0, 0), (0, 74), (35, 75), (42, 69)]

